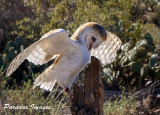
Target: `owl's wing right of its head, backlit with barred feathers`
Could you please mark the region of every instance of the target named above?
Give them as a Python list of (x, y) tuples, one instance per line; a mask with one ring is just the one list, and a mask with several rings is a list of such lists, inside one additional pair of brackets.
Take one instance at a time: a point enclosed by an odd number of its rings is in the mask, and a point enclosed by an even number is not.
[(117, 56), (117, 50), (122, 42), (114, 34), (107, 31), (107, 39), (91, 52), (92, 56), (98, 58), (103, 65), (113, 62)]

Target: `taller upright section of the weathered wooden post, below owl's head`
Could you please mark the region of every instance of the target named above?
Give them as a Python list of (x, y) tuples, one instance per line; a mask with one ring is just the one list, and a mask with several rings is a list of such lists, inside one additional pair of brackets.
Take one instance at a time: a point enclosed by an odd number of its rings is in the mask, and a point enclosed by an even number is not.
[(85, 109), (95, 115), (103, 115), (103, 85), (101, 64), (98, 59), (91, 57), (91, 64), (85, 71)]

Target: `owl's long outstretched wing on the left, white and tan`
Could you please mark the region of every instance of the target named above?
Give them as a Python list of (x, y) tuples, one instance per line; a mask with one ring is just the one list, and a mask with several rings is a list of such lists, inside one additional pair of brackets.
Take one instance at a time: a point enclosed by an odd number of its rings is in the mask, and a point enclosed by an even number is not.
[(53, 59), (54, 55), (63, 54), (64, 49), (69, 49), (73, 45), (74, 42), (68, 38), (65, 30), (52, 30), (15, 57), (7, 69), (6, 76), (10, 76), (25, 59), (36, 65), (42, 65)]

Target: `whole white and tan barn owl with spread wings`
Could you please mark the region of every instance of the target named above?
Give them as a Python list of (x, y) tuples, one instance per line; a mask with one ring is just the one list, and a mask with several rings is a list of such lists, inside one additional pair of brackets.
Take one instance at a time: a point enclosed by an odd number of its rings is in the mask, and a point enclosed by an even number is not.
[(64, 29), (52, 30), (15, 57), (6, 76), (10, 76), (25, 59), (35, 65), (55, 59), (54, 63), (36, 78), (33, 89), (40, 86), (52, 91), (57, 82), (67, 92), (90, 61), (91, 55), (100, 59), (102, 64), (111, 63), (121, 43), (116, 35), (95, 22), (83, 24), (71, 38)]

